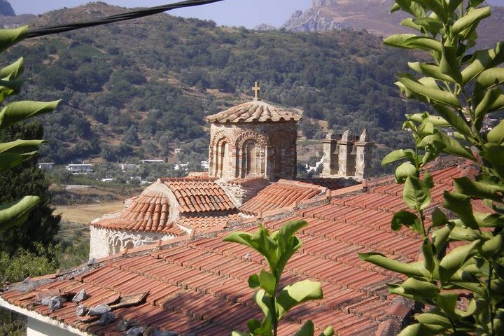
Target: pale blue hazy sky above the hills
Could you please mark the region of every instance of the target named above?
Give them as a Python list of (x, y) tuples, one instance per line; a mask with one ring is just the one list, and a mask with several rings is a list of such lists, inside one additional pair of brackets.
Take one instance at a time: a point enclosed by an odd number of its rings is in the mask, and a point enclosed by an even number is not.
[[(16, 14), (41, 14), (49, 10), (79, 6), (90, 0), (10, 0)], [(123, 7), (150, 7), (174, 0), (105, 0)], [(497, 6), (504, 6), (504, 0), (488, 0)], [(218, 25), (245, 26), (253, 28), (260, 23), (267, 23), (279, 27), (294, 10), (306, 10), (311, 0), (225, 0), (221, 3), (211, 3), (189, 9), (171, 10), (169, 13), (186, 17), (214, 20)]]

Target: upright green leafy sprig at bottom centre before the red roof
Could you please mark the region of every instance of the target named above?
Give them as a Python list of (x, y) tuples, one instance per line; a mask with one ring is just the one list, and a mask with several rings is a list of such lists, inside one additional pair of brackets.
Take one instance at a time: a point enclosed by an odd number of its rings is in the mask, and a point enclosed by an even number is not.
[[(269, 271), (262, 269), (260, 274), (248, 277), (248, 286), (258, 288), (254, 293), (254, 301), (258, 304), (265, 317), (262, 321), (249, 320), (249, 332), (232, 332), (233, 336), (276, 336), (281, 318), (297, 304), (309, 300), (320, 300), (322, 288), (319, 282), (302, 280), (292, 283), (279, 290), (283, 269), (290, 257), (301, 247), (302, 241), (295, 233), (308, 225), (305, 221), (290, 221), (280, 230), (270, 233), (267, 228), (259, 225), (254, 233), (233, 232), (224, 238), (243, 244), (258, 251), (266, 260)], [(326, 328), (320, 336), (331, 336), (332, 327)], [(314, 323), (311, 320), (304, 322), (295, 336), (313, 336)]]

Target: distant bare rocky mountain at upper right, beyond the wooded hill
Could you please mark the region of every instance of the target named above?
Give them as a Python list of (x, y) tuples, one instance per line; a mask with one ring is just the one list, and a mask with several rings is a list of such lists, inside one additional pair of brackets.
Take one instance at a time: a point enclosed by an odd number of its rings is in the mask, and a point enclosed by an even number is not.
[[(399, 23), (403, 13), (389, 14), (394, 0), (314, 0), (311, 8), (297, 10), (283, 28), (290, 31), (356, 29), (379, 36), (409, 32)], [(504, 40), (504, 7), (492, 8), (491, 18), (479, 29), (480, 45), (489, 47)]]

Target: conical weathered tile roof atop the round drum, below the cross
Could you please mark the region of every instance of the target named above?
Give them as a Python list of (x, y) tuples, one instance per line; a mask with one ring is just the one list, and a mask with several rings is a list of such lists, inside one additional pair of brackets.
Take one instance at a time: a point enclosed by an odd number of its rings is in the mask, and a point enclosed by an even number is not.
[(285, 111), (267, 102), (252, 101), (208, 116), (210, 123), (258, 123), (276, 121), (299, 121), (301, 116)]

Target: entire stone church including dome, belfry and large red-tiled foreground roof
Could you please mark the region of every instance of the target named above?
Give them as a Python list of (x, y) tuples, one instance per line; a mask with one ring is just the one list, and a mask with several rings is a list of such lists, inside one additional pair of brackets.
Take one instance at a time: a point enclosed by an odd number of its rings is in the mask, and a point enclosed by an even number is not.
[[(244, 332), (247, 321), (262, 318), (248, 277), (266, 264), (223, 237), (307, 221), (283, 279), (318, 281), (323, 299), (287, 314), (279, 335), (295, 334), (307, 319), (316, 335), (328, 325), (341, 336), (397, 335), (416, 308), (388, 295), (387, 284), (402, 280), (398, 274), (363, 262), (358, 252), (417, 260), (418, 237), (390, 225), (396, 211), (407, 209), (402, 186), (393, 176), (345, 185), (367, 174), (360, 165), (372, 146), (366, 132), (323, 141), (332, 162), (326, 172), (345, 179), (297, 179), (300, 116), (260, 101), (255, 90), (253, 101), (209, 116), (208, 173), (159, 179), (120, 213), (93, 221), (94, 259), (8, 284), (0, 289), (0, 307), (27, 317), (28, 336)], [(474, 176), (465, 165), (438, 161), (433, 195), (452, 190), (454, 176)], [(439, 197), (429, 211), (435, 207), (442, 207)]]

